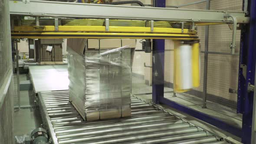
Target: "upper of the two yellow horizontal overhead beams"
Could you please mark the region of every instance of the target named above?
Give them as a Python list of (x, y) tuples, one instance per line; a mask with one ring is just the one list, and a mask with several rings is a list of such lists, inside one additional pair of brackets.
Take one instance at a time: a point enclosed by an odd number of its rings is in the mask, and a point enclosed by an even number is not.
[[(59, 26), (58, 31), (55, 26), (14, 26), (13, 32), (110, 32), (110, 33), (181, 33), (181, 29), (154, 27), (151, 32), (150, 27), (140, 26), (109, 26), (109, 30), (105, 30), (105, 26)], [(195, 31), (184, 29), (186, 34), (196, 34)]]

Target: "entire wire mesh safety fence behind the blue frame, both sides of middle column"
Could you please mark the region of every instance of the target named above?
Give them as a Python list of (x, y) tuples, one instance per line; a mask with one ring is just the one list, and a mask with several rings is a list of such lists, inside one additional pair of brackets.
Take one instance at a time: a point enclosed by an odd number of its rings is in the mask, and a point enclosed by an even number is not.
[[(243, 0), (210, 0), (210, 10), (242, 11)], [(207, 2), (194, 3), (179, 7), (183, 9), (206, 10)], [(203, 102), (203, 87), (207, 92), (207, 103), (214, 103), (221, 107), (236, 109), (239, 68), (240, 30), (236, 34), (235, 55), (231, 55), (230, 43), (232, 30), (227, 24), (210, 25), (208, 27), (208, 51), (205, 49), (205, 33), (207, 26), (197, 26), (197, 35), (200, 39), (200, 86), (181, 93)], [(142, 51), (141, 39), (137, 39), (136, 51), (132, 67), (133, 94), (152, 94), (152, 52)], [(205, 54), (208, 59), (205, 60)], [(204, 67), (207, 62), (207, 68)], [(206, 75), (206, 80), (203, 78)], [(174, 42), (165, 40), (164, 52), (164, 93), (165, 96), (173, 95), (174, 80)], [(178, 95), (177, 95), (178, 96)]]

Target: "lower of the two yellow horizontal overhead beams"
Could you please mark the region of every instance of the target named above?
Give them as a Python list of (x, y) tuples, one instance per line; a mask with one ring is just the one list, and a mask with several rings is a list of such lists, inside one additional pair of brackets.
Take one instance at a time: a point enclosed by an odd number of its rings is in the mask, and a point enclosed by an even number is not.
[(168, 33), (11, 33), (12, 38), (56, 39), (56, 38), (90, 38), (90, 39), (198, 39), (189, 34)]

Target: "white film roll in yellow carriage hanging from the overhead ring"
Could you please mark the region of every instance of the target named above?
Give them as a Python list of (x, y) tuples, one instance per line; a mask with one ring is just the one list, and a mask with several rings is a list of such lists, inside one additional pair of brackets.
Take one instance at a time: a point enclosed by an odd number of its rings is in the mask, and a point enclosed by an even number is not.
[(179, 45), (174, 49), (174, 92), (186, 92), (200, 86), (200, 46)]

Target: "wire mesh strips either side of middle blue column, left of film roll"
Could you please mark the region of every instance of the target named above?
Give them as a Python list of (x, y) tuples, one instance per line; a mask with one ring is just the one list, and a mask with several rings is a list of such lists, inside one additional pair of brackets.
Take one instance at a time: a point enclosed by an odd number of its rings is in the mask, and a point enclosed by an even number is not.
[[(142, 39), (136, 39), (136, 49), (132, 65), (132, 94), (152, 94), (152, 52), (145, 53), (142, 49)], [(165, 40), (165, 61), (171, 61), (174, 45), (172, 41)], [(172, 54), (173, 55), (173, 54)], [(171, 62), (170, 62), (171, 63)], [(173, 69), (173, 68), (172, 68)], [(171, 65), (164, 65), (164, 92), (171, 92)]]

